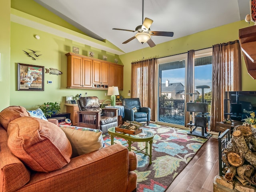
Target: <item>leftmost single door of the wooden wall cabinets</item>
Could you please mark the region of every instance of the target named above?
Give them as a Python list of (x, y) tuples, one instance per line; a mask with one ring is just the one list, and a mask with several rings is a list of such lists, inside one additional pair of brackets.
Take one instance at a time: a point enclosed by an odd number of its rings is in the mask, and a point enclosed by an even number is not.
[(78, 56), (70, 56), (71, 60), (68, 62), (68, 86), (81, 87), (82, 86), (82, 58)]

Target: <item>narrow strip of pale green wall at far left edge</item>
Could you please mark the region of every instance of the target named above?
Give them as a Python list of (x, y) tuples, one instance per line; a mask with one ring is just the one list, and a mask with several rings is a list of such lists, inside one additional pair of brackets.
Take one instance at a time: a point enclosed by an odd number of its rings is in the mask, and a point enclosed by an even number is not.
[(0, 111), (10, 103), (10, 0), (0, 6)]

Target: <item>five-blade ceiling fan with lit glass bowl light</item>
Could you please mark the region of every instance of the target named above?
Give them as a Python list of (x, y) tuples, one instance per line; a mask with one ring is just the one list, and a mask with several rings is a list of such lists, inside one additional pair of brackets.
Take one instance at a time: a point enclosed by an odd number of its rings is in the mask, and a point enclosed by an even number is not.
[(128, 30), (128, 29), (118, 29), (118, 28), (113, 28), (114, 30), (122, 30), (122, 31), (130, 31), (130, 32), (136, 32), (135, 36), (132, 38), (126, 40), (123, 42), (123, 44), (126, 44), (130, 42), (131, 40), (137, 38), (139, 42), (143, 43), (148, 43), (150, 47), (156, 46), (156, 44), (152, 41), (151, 35), (155, 36), (168, 36), (172, 37), (173, 32), (165, 32), (165, 31), (150, 31), (150, 26), (153, 23), (153, 20), (149, 18), (145, 18), (143, 21), (143, 8), (144, 8), (144, 0), (142, 0), (142, 25), (139, 25), (135, 28), (135, 30)]

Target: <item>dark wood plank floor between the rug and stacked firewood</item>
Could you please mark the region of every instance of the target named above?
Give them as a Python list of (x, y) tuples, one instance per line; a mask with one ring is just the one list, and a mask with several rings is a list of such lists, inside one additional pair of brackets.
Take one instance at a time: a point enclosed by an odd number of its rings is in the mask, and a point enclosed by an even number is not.
[(166, 192), (212, 192), (212, 181), (218, 170), (218, 140), (210, 138)]

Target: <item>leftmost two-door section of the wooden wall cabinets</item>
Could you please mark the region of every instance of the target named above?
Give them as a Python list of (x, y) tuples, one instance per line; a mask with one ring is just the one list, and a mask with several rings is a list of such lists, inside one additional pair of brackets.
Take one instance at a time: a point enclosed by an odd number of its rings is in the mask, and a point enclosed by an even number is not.
[(67, 66), (67, 88), (92, 87), (92, 59), (70, 53)]

